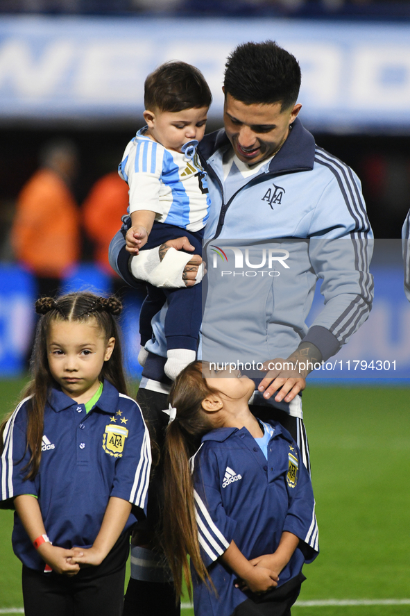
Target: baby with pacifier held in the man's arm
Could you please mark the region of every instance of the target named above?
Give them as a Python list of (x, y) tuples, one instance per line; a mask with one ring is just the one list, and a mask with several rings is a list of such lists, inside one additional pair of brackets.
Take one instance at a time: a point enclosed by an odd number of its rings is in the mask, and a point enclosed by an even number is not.
[[(146, 126), (130, 141), (119, 165), (130, 187), (126, 244), (132, 255), (182, 235), (201, 253), (210, 199), (196, 146), (205, 133), (211, 101), (205, 78), (187, 63), (165, 63), (146, 78)], [(147, 292), (139, 318), (139, 363), (144, 365), (148, 355), (144, 345), (152, 336), (151, 319), (168, 299), (164, 371), (173, 380), (196, 358), (201, 284), (180, 289), (148, 284)]]

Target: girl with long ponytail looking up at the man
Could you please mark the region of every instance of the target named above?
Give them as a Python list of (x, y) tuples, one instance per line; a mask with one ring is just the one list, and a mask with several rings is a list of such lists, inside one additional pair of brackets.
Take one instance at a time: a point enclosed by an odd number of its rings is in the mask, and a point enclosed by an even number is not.
[(163, 542), (173, 581), (179, 596), (182, 576), (189, 589), (192, 580), (196, 616), (289, 616), (302, 565), (318, 553), (309, 474), (291, 435), (250, 413), (253, 381), (210, 366), (187, 366), (170, 394)]

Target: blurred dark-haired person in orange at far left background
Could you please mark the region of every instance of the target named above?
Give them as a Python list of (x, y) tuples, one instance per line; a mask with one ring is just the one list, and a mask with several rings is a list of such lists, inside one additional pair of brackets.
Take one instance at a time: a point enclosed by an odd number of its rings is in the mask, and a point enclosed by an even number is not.
[(80, 217), (71, 194), (78, 156), (71, 141), (47, 142), (40, 169), (17, 199), (11, 243), (17, 261), (37, 282), (37, 295), (53, 297), (80, 254)]

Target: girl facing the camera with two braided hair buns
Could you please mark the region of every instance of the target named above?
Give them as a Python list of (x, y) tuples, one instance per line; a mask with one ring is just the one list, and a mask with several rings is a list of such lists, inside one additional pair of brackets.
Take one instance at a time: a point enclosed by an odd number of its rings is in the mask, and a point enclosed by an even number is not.
[(151, 467), (126, 395), (121, 302), (88, 292), (36, 302), (33, 380), (1, 424), (1, 506), (15, 508), (26, 616), (121, 616), (130, 529)]

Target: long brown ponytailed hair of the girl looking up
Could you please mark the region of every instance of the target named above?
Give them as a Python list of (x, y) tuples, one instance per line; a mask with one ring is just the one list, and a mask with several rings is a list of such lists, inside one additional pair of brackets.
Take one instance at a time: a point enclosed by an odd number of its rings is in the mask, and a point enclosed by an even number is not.
[(207, 386), (202, 376), (201, 363), (196, 362), (182, 370), (170, 394), (171, 406), (176, 408), (177, 413), (166, 428), (164, 446), (163, 544), (177, 597), (181, 594), (182, 575), (191, 597), (188, 555), (200, 580), (213, 587), (200, 556), (194, 482), (189, 458), (198, 451), (201, 437), (212, 430), (201, 403), (208, 394), (215, 391)]

